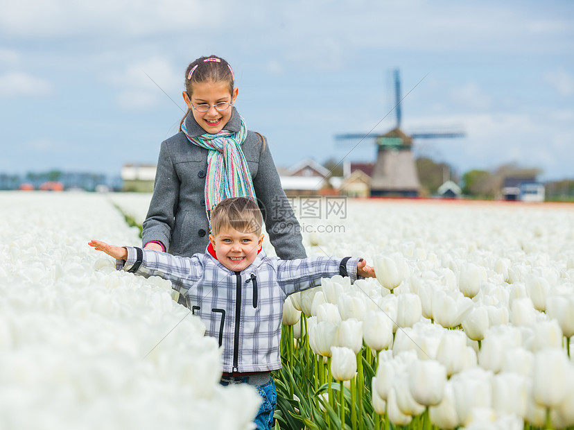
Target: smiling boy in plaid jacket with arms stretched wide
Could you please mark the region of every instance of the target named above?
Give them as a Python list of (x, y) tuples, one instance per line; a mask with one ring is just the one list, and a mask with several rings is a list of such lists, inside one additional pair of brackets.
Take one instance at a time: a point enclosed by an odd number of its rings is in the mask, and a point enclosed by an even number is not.
[(263, 405), (255, 420), (270, 429), (277, 399), (272, 370), (281, 368), (279, 343), (285, 298), (320, 285), (322, 277), (374, 277), (363, 259), (308, 257), (281, 260), (262, 250), (259, 207), (243, 197), (222, 200), (211, 211), (205, 254), (179, 257), (140, 248), (88, 244), (116, 259), (122, 270), (169, 279), (201, 318), (206, 334), (223, 345), (223, 385), (256, 386)]

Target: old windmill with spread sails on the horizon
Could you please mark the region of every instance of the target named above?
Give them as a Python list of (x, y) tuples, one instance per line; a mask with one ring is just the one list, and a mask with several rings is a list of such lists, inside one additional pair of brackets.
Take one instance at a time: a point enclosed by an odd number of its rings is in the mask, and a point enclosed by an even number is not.
[[(417, 197), (420, 182), (415, 158), (412, 155), (413, 139), (464, 137), (464, 132), (417, 132), (407, 135), (401, 130), (401, 80), (399, 70), (394, 70), (394, 111), (397, 126), (374, 137), (377, 146), (376, 162), (371, 175), (371, 196)], [(338, 141), (364, 139), (368, 133), (336, 135)]]

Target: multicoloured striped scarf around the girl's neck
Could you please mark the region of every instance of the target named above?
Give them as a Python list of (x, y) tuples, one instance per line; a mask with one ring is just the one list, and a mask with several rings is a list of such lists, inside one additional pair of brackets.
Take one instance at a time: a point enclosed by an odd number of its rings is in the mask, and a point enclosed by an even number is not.
[(247, 137), (245, 121), (241, 117), (241, 129), (238, 132), (221, 130), (216, 135), (204, 133), (192, 137), (188, 134), (186, 121), (182, 131), (194, 145), (209, 150), (207, 154), (207, 175), (205, 176), (205, 209), (209, 212), (221, 200), (229, 197), (246, 197), (257, 203), (251, 173), (241, 144)]

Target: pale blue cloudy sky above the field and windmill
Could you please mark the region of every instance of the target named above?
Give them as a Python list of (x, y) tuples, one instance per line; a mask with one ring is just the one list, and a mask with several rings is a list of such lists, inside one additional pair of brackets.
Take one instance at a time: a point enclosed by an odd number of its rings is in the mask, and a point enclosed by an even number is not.
[[(462, 175), (514, 163), (574, 178), (574, 2), (1, 0), (0, 173), (119, 175), (177, 132), (184, 71), (232, 65), (277, 166), (374, 162), (372, 136)], [(366, 139), (337, 141), (343, 133)]]

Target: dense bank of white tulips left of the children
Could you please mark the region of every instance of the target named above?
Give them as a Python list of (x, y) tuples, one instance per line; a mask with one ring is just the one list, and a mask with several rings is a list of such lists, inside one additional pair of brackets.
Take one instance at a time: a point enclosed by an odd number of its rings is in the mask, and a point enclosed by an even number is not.
[(217, 342), (171, 283), (87, 246), (139, 244), (108, 196), (0, 202), (0, 429), (250, 428), (259, 396), (218, 384)]

